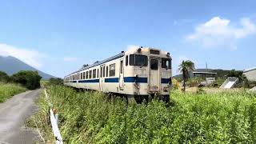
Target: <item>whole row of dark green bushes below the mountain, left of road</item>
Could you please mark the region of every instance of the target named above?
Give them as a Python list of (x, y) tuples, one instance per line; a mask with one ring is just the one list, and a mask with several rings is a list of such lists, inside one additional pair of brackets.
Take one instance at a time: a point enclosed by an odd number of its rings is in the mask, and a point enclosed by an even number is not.
[(41, 76), (38, 71), (21, 70), (16, 74), (9, 76), (4, 71), (0, 71), (0, 82), (13, 82), (18, 83), (28, 90), (35, 90), (40, 87)]

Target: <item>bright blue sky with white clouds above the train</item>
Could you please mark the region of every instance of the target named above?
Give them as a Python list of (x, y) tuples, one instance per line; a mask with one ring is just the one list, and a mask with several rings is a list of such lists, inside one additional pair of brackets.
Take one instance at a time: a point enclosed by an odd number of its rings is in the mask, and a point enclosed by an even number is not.
[(129, 46), (158, 47), (197, 68), (256, 61), (256, 1), (10, 1), (0, 4), (0, 55), (58, 77)]

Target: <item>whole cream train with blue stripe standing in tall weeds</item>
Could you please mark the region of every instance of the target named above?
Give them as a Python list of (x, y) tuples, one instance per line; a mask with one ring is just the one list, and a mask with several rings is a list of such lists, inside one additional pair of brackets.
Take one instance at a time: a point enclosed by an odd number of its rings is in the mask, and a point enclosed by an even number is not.
[(170, 53), (166, 51), (149, 47), (132, 48), (67, 75), (64, 85), (134, 96), (137, 102), (149, 95), (158, 95), (169, 101), (171, 60)]

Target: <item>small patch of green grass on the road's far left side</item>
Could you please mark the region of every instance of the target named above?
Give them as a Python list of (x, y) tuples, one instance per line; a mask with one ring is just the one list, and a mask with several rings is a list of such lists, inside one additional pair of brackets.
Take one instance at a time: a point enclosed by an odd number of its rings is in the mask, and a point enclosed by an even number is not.
[(5, 102), (6, 99), (11, 98), (15, 94), (26, 91), (26, 88), (14, 83), (0, 82), (0, 103)]

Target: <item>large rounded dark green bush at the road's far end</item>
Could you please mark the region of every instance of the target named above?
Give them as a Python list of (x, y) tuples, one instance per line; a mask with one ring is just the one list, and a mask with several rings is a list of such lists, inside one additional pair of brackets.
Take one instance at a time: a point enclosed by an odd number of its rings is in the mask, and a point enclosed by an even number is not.
[(35, 90), (40, 87), (41, 76), (38, 71), (22, 70), (11, 76), (13, 82), (25, 86), (29, 90)]

